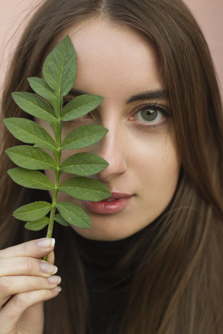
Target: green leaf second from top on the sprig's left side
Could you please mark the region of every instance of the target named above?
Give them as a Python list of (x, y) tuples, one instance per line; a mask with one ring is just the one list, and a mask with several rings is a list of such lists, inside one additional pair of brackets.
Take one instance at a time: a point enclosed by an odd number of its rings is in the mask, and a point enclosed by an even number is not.
[(57, 121), (54, 110), (38, 95), (25, 92), (15, 92), (12, 93), (12, 97), (19, 108), (24, 110), (26, 113), (49, 123)]

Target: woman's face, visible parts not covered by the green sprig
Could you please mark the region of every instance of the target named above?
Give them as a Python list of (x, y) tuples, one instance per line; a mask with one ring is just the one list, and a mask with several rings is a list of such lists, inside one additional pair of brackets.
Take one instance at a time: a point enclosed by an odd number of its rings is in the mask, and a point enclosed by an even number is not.
[[(104, 100), (88, 115), (65, 122), (62, 137), (87, 124), (99, 124), (109, 131), (90, 147), (64, 150), (62, 161), (78, 152), (103, 157), (109, 166), (89, 177), (107, 186), (115, 200), (87, 203), (59, 192), (58, 201), (78, 204), (89, 215), (90, 229), (72, 225), (82, 236), (122, 239), (161, 214), (178, 181), (180, 161), (158, 51), (143, 33), (97, 18), (63, 30), (47, 54), (67, 34), (77, 53), (73, 88)], [(72, 94), (65, 97), (67, 101), (73, 98)], [(48, 123), (35, 120), (53, 136)], [(45, 175), (54, 182), (54, 172), (47, 170)], [(74, 176), (63, 173), (60, 183)]]

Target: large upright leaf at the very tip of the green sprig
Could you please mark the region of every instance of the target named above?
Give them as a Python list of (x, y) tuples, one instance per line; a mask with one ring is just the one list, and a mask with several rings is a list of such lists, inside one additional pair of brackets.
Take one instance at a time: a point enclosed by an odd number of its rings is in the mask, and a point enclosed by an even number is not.
[(76, 76), (76, 53), (68, 35), (46, 57), (42, 73), (55, 96), (62, 98), (71, 90)]

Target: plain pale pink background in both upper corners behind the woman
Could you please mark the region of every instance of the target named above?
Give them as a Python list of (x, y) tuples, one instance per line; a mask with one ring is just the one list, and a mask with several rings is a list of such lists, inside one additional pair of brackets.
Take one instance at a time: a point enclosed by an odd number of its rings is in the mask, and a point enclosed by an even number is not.
[[(7, 42), (11, 39), (22, 18), (28, 13), (27, 8), (33, 7), (38, 2), (38, 0), (0, 0), (0, 87), (6, 75), (8, 55), (16, 45), (16, 38), (13, 38), (8, 45)], [(185, 0), (185, 2), (200, 24), (209, 44), (223, 97), (223, 1)], [(17, 35), (19, 35), (19, 30)]]

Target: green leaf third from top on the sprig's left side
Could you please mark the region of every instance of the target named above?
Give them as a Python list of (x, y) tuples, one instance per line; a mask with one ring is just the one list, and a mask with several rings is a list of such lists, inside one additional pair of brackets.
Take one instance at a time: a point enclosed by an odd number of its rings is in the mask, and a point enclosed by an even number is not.
[(57, 143), (48, 132), (37, 123), (26, 118), (5, 118), (3, 120), (6, 128), (15, 138), (24, 143), (33, 144), (35, 147), (45, 148), (53, 153), (57, 153)]

